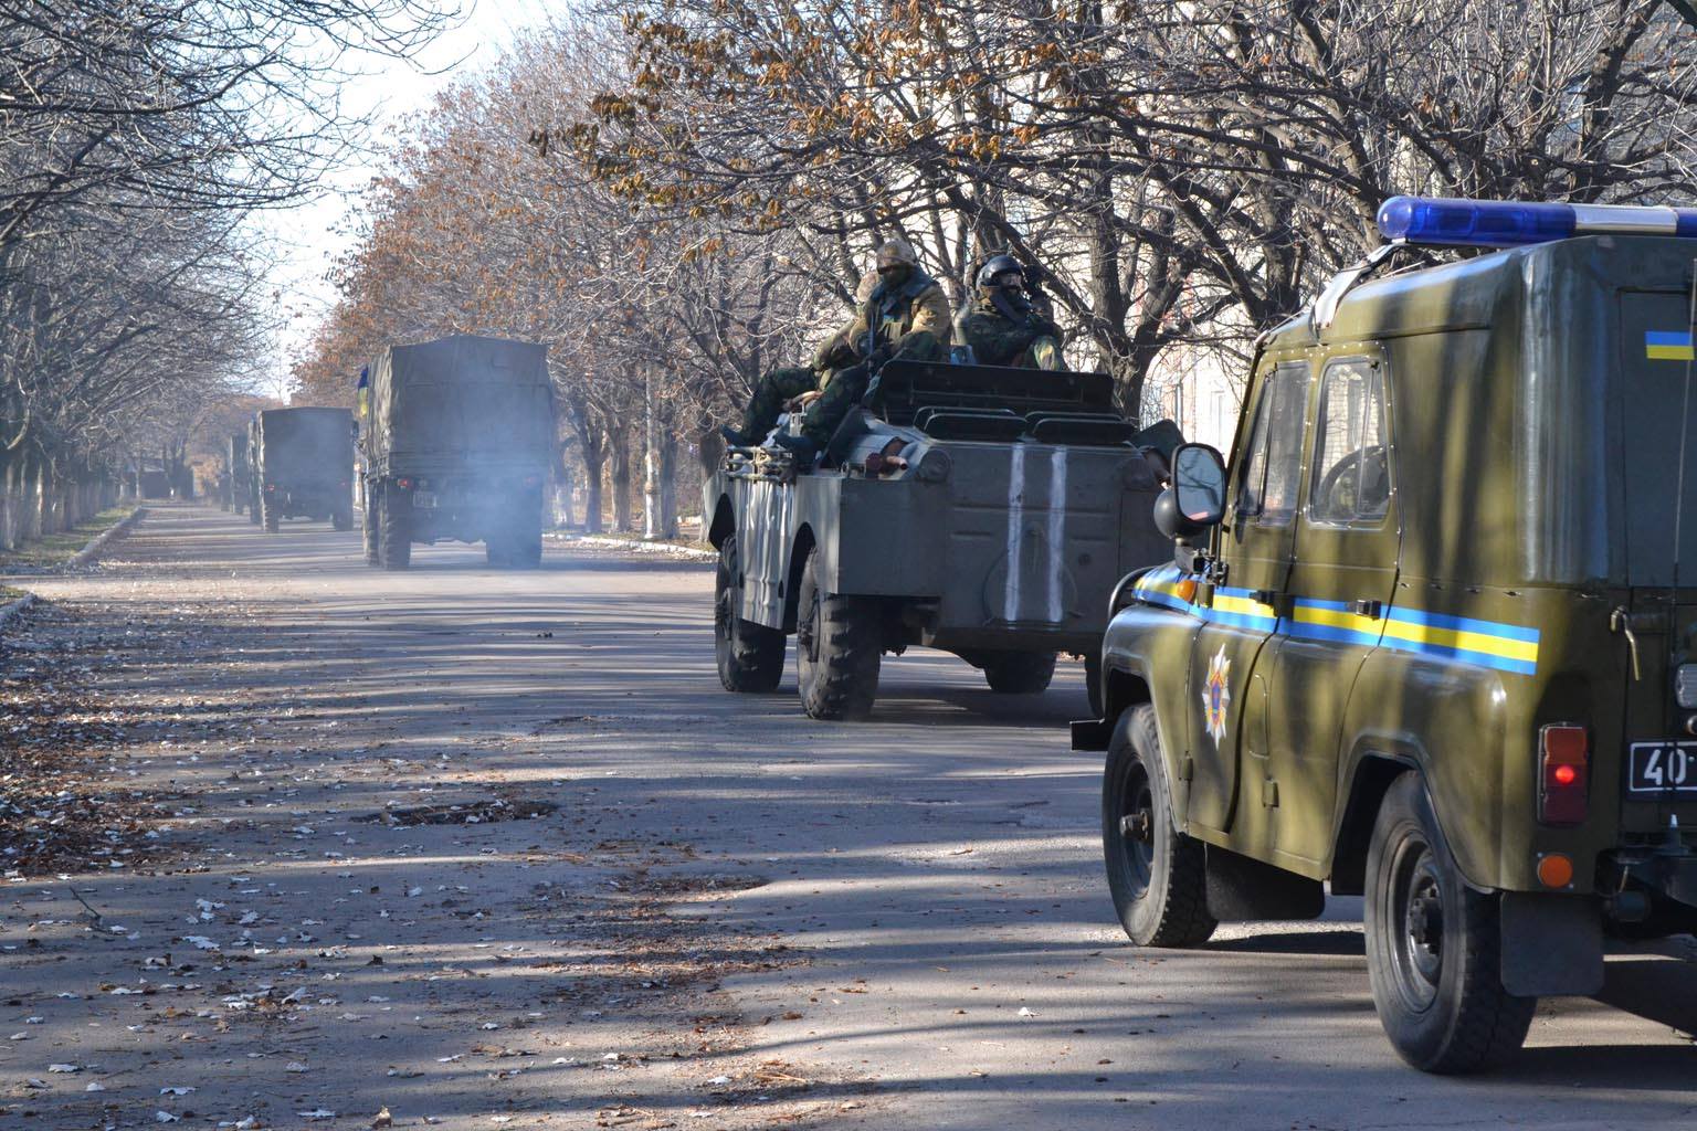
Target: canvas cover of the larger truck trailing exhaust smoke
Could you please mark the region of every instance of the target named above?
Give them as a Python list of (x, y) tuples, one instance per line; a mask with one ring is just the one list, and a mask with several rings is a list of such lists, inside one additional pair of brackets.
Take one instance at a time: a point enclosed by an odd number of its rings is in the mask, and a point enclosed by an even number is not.
[(512, 466), (553, 454), (546, 346), (455, 334), (372, 366), (372, 456), (390, 466)]

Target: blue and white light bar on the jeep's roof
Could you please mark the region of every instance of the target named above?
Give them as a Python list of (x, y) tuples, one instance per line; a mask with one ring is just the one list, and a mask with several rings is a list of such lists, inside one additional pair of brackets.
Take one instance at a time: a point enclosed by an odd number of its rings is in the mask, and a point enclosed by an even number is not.
[(1697, 239), (1697, 209), (1621, 203), (1392, 197), (1380, 205), (1378, 222), (1392, 242), (1449, 248), (1514, 248), (1600, 234)]

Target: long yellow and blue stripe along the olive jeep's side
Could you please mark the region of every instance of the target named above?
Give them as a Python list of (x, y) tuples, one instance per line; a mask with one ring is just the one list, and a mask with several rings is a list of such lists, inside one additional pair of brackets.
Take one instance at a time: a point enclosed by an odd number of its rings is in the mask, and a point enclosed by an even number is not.
[(1139, 600), (1213, 624), (1285, 632), (1297, 639), (1392, 648), (1515, 675), (1537, 671), (1539, 632), (1521, 624), (1402, 607), (1369, 617), (1344, 602), (1313, 597), (1297, 597), (1290, 616), (1280, 617), (1273, 605), (1257, 602), (1252, 590), (1224, 587), (1213, 590), (1212, 605), (1200, 605), (1183, 595), (1176, 566), (1145, 573), (1132, 590)]

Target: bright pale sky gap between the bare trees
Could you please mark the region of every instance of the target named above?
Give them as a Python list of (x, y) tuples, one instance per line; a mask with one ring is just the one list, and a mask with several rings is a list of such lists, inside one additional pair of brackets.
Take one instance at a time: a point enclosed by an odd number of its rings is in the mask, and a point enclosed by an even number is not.
[[(361, 61), (365, 73), (344, 88), (344, 105), (351, 114), (377, 115), (373, 146), (392, 142), (406, 115), (426, 109), (436, 92), (455, 80), (492, 64), (514, 32), (541, 24), (550, 12), (563, 10), (567, 0), (463, 0), (463, 5), (468, 10), (463, 24), (414, 59)], [(275, 365), (260, 376), (261, 388), (256, 392), (285, 395), (290, 365), (336, 302), (336, 292), (324, 273), (351, 246), (348, 220), (358, 207), (360, 193), (380, 171), (378, 154), (368, 154), (329, 178), (321, 197), (260, 217), (261, 231), (277, 254), (272, 283), (287, 322)]]

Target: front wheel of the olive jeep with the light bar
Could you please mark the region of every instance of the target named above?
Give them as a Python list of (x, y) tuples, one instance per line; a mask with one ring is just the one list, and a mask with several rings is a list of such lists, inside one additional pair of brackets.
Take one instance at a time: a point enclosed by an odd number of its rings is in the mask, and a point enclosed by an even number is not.
[(1101, 855), (1120, 926), (1139, 946), (1196, 946), (1218, 926), (1201, 841), (1173, 826), (1171, 795), (1156, 709), (1132, 707), (1101, 775)]

